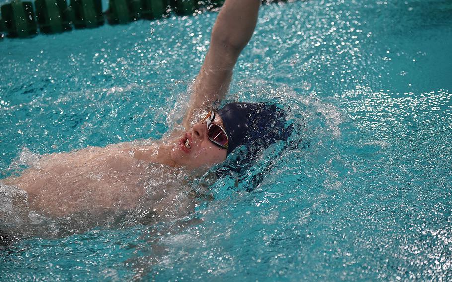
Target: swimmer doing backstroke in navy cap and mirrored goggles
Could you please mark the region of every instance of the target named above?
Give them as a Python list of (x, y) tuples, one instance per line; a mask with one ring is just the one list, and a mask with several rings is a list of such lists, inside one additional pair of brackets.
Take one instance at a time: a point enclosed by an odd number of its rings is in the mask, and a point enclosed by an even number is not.
[[(44, 155), (21, 175), (0, 182), (25, 190), (29, 207), (49, 217), (133, 209), (149, 183), (174, 178), (174, 171), (199, 175), (224, 162), (241, 145), (265, 148), (286, 139), (290, 131), (284, 127), (284, 111), (274, 105), (237, 102), (211, 108), (228, 92), (232, 70), (253, 34), (260, 4), (261, 0), (225, 1), (193, 84), (183, 120), (185, 132), (152, 143), (132, 141)], [(156, 165), (159, 169), (151, 169)], [(176, 212), (176, 208), (168, 210), (168, 205), (177, 193), (156, 187), (148, 195), (154, 201), (153, 212)]]

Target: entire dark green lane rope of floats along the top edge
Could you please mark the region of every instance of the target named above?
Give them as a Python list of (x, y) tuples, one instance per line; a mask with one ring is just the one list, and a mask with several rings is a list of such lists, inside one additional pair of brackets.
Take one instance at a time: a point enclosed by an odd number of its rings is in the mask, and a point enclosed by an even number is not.
[[(30, 37), (37, 33), (55, 33), (75, 28), (92, 28), (105, 22), (102, 0), (35, 0), (36, 17), (31, 2), (12, 0), (1, 6), (0, 39)], [(262, 0), (263, 3), (286, 0)], [(172, 10), (177, 15), (191, 15), (223, 5), (225, 0), (109, 0), (105, 12), (110, 24), (125, 24), (138, 19), (159, 19)]]

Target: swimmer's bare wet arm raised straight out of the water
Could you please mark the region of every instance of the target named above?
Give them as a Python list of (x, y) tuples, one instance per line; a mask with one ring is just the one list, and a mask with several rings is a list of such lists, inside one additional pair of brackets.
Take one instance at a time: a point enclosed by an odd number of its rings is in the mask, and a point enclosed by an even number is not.
[(261, 0), (226, 0), (212, 29), (209, 50), (193, 85), (183, 125), (186, 130), (197, 114), (222, 100), (232, 70), (256, 27)]

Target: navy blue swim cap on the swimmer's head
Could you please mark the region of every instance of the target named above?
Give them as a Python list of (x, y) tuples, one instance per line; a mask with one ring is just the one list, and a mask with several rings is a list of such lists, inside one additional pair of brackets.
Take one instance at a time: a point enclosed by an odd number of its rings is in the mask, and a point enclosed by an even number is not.
[(272, 104), (229, 103), (217, 113), (229, 138), (228, 155), (240, 145), (267, 148), (278, 140), (286, 140), (291, 133), (291, 127), (285, 127), (284, 111)]

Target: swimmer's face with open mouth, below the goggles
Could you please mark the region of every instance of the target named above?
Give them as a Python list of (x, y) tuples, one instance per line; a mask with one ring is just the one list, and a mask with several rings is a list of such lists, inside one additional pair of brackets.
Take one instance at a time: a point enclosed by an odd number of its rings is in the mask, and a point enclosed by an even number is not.
[[(215, 115), (214, 123), (224, 127), (219, 115)], [(189, 141), (190, 148), (185, 145)], [(205, 167), (208, 169), (214, 164), (226, 160), (227, 150), (218, 147), (207, 137), (207, 125), (199, 121), (176, 141), (171, 149), (172, 159), (180, 166), (187, 168)]]

